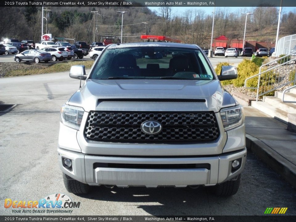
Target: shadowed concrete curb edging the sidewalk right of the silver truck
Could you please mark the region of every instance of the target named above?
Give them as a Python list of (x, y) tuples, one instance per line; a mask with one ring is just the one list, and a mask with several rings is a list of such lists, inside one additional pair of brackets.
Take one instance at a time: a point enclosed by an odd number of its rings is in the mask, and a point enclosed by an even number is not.
[(246, 147), (296, 189), (296, 167), (261, 140), (246, 134)]

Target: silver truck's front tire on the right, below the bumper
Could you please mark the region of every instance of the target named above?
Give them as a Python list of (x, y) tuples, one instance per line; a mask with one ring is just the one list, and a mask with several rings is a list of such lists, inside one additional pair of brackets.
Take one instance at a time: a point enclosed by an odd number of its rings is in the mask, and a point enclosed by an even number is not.
[(232, 196), (236, 194), (240, 187), (241, 175), (238, 175), (236, 180), (228, 180), (213, 187), (213, 193), (217, 196)]

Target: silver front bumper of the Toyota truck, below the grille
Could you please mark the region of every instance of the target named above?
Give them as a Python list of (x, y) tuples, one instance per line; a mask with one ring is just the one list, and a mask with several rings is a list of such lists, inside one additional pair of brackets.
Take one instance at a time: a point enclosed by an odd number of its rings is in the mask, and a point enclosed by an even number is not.
[[(89, 185), (186, 187), (212, 186), (236, 177), (244, 169), (246, 153), (244, 148), (214, 156), (143, 158), (89, 155), (58, 148), (58, 159), (60, 169), (66, 175)], [(71, 170), (64, 167), (63, 158), (72, 160)], [(241, 165), (233, 171), (232, 161), (237, 159), (241, 160)], [(194, 164), (196, 167), (172, 168), (172, 164), (174, 167), (176, 164), (179, 166)], [(137, 167), (141, 165), (142, 167)]]

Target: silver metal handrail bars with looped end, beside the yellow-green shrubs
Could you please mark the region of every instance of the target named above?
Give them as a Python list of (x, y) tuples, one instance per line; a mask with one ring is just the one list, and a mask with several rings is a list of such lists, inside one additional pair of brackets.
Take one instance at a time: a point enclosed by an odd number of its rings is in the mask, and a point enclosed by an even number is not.
[[(291, 55), (295, 55), (295, 54), (296, 54), (296, 51), (295, 51), (295, 52), (292, 52), (292, 53), (290, 53), (290, 54), (288, 54), (288, 55), (285, 55), (285, 56), (283, 56), (283, 57), (280, 57), (280, 58), (278, 58), (278, 59), (276, 59), (276, 60), (273, 60), (273, 61), (271, 61), (271, 62), (269, 62), (269, 63), (263, 64), (263, 65), (260, 66), (260, 68), (259, 68), (259, 73), (258, 73), (258, 74), (254, 75), (254, 76), (251, 76), (251, 77), (249, 77), (249, 78), (247, 78), (247, 79), (245, 79), (245, 85), (244, 85), (245, 88), (247, 88), (247, 89), (257, 89), (256, 101), (258, 101), (258, 99), (259, 99), (259, 88), (260, 88), (261, 74), (264, 74), (264, 73), (266, 73), (266, 72), (269, 72), (270, 70), (273, 70), (273, 69), (277, 69), (277, 68), (279, 68), (279, 67), (281, 67), (281, 66), (283, 66), (283, 65), (289, 64), (289, 63), (291, 63), (292, 61), (295, 61), (296, 58), (294, 58), (294, 59), (292, 59), (292, 60), (289, 60), (289, 61), (286, 61), (286, 62), (283, 63), (283, 64), (279, 64), (279, 65), (273, 66), (273, 67), (271, 67), (271, 68), (269, 68), (269, 69), (266, 69), (266, 70), (263, 71), (263, 72), (261, 72), (262, 68), (263, 68), (263, 67), (266, 67), (266, 66), (269, 66), (269, 65), (271, 65), (271, 64), (277, 64), (279, 60), (284, 60), (286, 57), (289, 57), (289, 56), (291, 56)], [(247, 81), (248, 81), (249, 79), (253, 79), (253, 78), (257, 77), (257, 76), (258, 76), (258, 84), (257, 84), (257, 87), (247, 87)], [(295, 76), (295, 79), (296, 79), (296, 76)], [(292, 82), (293, 82), (293, 81), (292, 81)], [(294, 80), (294, 82), (295, 82), (295, 80)], [(291, 82), (287, 82), (286, 84), (283, 84), (283, 85), (281, 85), (281, 86), (278, 86), (278, 87), (275, 87), (275, 88), (273, 88), (273, 89), (270, 89), (270, 90), (268, 90), (268, 91), (266, 91), (266, 92), (264, 92), (264, 93), (261, 93), (260, 96), (261, 96), (261, 95), (264, 95), (264, 94), (266, 94), (266, 93), (268, 93), (268, 92), (271, 92), (271, 91), (273, 91), (273, 90), (275, 90), (275, 89), (277, 89), (277, 88), (281, 88), (281, 87), (283, 87), (283, 86), (285, 86), (285, 85), (287, 85), (287, 84), (290, 84), (290, 83), (291, 83)], [(294, 84), (295, 84), (295, 83), (294, 83)]]

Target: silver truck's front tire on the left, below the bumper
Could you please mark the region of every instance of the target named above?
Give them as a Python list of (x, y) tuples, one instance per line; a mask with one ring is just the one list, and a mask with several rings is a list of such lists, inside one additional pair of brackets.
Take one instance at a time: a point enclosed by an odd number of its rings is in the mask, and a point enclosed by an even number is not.
[(63, 173), (64, 185), (66, 190), (73, 194), (87, 194), (90, 191), (90, 186), (81, 183)]

